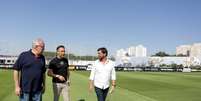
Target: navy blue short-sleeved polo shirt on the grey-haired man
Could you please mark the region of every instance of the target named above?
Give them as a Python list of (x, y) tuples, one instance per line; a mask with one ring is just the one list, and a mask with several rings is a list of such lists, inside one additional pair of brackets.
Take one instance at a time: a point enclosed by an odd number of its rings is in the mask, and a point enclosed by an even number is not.
[(20, 87), (22, 92), (38, 92), (42, 90), (43, 74), (46, 71), (45, 57), (36, 57), (31, 50), (23, 52), (13, 67), (21, 72)]

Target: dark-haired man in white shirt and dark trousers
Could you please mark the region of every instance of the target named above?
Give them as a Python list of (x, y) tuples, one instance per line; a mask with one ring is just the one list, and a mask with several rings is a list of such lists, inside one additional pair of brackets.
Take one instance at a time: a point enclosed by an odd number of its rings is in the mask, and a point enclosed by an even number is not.
[(116, 73), (114, 62), (107, 59), (107, 49), (103, 47), (99, 48), (97, 51), (99, 60), (95, 61), (94, 67), (91, 70), (89, 90), (91, 92), (95, 86), (98, 101), (105, 101), (110, 86), (110, 80), (112, 81), (112, 87), (109, 93), (112, 93), (115, 89)]

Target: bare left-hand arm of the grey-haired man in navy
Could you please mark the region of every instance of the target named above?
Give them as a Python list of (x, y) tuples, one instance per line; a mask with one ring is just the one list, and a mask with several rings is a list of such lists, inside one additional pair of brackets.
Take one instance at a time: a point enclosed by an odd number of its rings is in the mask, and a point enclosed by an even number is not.
[(20, 78), (19, 77), (20, 77), (20, 72), (18, 70), (14, 70), (13, 78), (14, 78), (14, 82), (15, 82), (15, 94), (17, 96), (19, 96), (21, 93)]

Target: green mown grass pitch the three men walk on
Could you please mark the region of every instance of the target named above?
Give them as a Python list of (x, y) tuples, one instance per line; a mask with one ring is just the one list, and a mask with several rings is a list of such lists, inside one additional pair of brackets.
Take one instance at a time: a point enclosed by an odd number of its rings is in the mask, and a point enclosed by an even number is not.
[[(88, 92), (89, 72), (71, 72), (71, 101), (96, 101)], [(16, 101), (11, 70), (0, 70), (0, 101)], [(201, 101), (201, 73), (117, 72), (117, 88), (110, 101)], [(43, 101), (52, 101), (51, 78)], [(62, 101), (62, 98), (61, 100)]]

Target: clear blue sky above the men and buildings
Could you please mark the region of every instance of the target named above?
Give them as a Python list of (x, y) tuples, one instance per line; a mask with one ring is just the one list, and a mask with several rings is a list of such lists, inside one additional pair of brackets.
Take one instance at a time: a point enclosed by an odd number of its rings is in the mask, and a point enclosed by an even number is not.
[(0, 0), (0, 54), (19, 54), (42, 38), (46, 51), (63, 44), (96, 55), (139, 44), (148, 54), (175, 54), (201, 42), (201, 0)]

